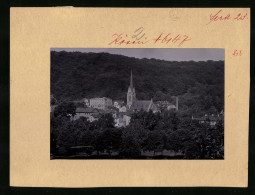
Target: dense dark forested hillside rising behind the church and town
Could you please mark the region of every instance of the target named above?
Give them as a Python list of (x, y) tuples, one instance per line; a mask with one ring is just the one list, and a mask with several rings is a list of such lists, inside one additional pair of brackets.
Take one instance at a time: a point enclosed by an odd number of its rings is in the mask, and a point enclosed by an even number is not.
[(224, 61), (165, 61), (109, 53), (51, 51), (51, 95), (58, 102), (84, 97), (126, 100), (130, 71), (137, 98), (175, 103), (190, 116), (224, 108)]

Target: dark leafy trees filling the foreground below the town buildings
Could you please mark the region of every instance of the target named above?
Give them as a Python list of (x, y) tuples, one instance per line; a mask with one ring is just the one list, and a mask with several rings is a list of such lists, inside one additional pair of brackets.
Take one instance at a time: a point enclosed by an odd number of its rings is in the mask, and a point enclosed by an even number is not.
[[(85, 146), (86, 154), (119, 158), (139, 158), (142, 152), (163, 154), (164, 150), (182, 154), (186, 159), (222, 159), (224, 156), (224, 126), (215, 127), (187, 120), (173, 111), (152, 113), (140, 111), (131, 117), (126, 128), (115, 128), (111, 114), (89, 122), (81, 117), (70, 120), (72, 104), (62, 104), (51, 115), (51, 153), (66, 155), (68, 149)], [(62, 108), (61, 108), (62, 107)], [(66, 113), (66, 114), (63, 114)]]

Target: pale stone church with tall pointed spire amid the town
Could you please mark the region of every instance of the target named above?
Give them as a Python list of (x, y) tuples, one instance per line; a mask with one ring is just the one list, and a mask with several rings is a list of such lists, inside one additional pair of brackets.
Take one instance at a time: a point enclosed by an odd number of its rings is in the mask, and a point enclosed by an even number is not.
[(128, 92), (127, 92), (127, 108), (130, 111), (139, 111), (139, 110), (144, 110), (144, 111), (152, 110), (153, 112), (159, 111), (152, 99), (151, 100), (137, 100), (135, 87), (134, 87), (134, 83), (133, 83), (132, 70), (131, 70), (131, 76), (130, 76), (130, 85), (128, 87)]

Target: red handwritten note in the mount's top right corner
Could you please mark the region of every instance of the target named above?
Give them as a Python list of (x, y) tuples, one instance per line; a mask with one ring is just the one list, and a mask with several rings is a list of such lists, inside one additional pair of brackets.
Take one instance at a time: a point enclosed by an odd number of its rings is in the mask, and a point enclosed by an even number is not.
[(238, 13), (236, 15), (231, 15), (230, 13), (224, 13), (222, 9), (217, 11), (216, 13), (210, 14), (210, 21), (206, 24), (210, 24), (211, 22), (219, 22), (219, 21), (226, 21), (226, 20), (247, 20), (248, 14), (247, 13)]

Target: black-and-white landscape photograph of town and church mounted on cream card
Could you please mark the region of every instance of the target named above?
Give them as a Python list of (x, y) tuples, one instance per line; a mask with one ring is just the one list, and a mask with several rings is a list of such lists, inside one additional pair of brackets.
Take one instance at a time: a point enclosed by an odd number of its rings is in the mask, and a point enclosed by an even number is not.
[(50, 52), (50, 159), (224, 159), (224, 49)]

